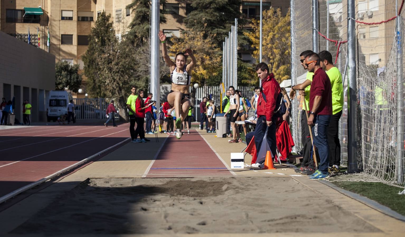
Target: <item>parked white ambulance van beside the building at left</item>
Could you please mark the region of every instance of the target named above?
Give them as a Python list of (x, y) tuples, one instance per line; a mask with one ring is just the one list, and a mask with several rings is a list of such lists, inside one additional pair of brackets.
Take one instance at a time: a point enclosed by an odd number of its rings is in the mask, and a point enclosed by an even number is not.
[(62, 114), (68, 113), (68, 104), (72, 94), (65, 90), (51, 90), (47, 100), (48, 122), (56, 122)]

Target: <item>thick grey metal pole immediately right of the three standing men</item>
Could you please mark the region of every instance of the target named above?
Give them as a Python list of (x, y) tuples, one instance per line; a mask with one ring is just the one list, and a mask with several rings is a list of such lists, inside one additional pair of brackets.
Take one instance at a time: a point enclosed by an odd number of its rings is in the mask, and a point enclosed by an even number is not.
[(357, 167), (357, 88), (356, 88), (356, 31), (355, 31), (355, 0), (347, 0), (347, 42), (349, 61), (348, 91), (349, 114), (347, 116), (347, 173), (358, 172)]

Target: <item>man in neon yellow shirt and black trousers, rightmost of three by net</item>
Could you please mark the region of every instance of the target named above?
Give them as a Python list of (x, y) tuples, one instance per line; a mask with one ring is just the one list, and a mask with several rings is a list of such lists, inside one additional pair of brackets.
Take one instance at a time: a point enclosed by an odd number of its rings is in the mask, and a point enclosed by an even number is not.
[(341, 146), (339, 140), (339, 120), (343, 110), (343, 83), (342, 74), (333, 65), (330, 52), (324, 50), (319, 53), (320, 66), (326, 71), (332, 86), (332, 117), (328, 126), (329, 166), (331, 175), (340, 173)]

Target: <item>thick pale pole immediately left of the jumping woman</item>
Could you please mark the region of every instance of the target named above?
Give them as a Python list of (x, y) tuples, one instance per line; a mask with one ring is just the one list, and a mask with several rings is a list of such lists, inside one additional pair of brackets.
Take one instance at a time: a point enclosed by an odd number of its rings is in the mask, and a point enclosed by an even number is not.
[(160, 105), (160, 77), (159, 77), (159, 23), (160, 23), (160, 0), (152, 0), (151, 17), (151, 69), (150, 69), (150, 91), (156, 98), (156, 104)]

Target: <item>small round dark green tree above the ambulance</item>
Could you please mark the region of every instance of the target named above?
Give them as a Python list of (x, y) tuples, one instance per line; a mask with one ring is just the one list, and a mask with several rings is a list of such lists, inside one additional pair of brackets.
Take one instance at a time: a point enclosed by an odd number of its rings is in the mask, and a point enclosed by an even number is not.
[(79, 65), (70, 65), (66, 61), (60, 61), (55, 65), (55, 89), (64, 90), (69, 88), (77, 92), (81, 85), (81, 75), (79, 74)]

